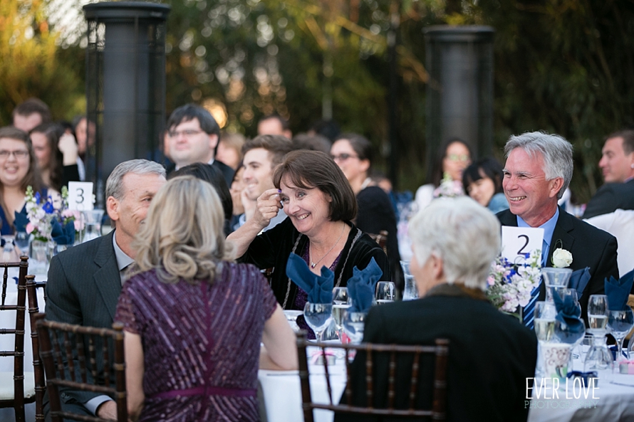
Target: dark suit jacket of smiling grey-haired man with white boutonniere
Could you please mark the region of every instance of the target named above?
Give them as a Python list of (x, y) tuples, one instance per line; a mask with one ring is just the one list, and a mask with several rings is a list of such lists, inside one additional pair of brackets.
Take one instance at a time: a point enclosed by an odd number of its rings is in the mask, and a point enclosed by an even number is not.
[[(517, 216), (511, 211), (505, 210), (497, 213), (502, 226), (517, 226)], [(558, 241), (561, 241), (559, 246)], [(590, 267), (591, 279), (581, 297), (581, 316), (587, 321), (588, 298), (590, 295), (603, 295), (605, 292), (605, 279), (613, 275), (618, 278), (618, 265), (616, 263), (616, 238), (599, 228), (581, 221), (575, 216), (559, 209), (559, 218), (553, 238), (549, 247), (549, 255), (546, 266), (553, 266), (553, 252), (556, 248), (562, 248), (572, 253), (573, 261), (571, 270), (580, 270)], [(538, 300), (546, 297), (546, 286), (541, 283)]]

